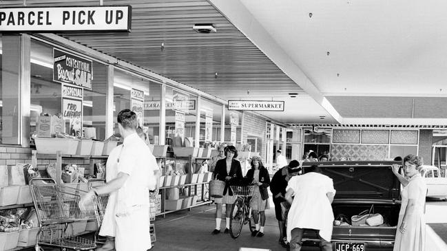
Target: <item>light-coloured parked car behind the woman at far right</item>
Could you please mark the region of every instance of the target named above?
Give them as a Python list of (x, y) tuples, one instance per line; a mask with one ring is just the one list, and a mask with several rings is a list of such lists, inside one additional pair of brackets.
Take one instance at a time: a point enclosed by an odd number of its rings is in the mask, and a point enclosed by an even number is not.
[(427, 184), (427, 197), (447, 199), (447, 176), (436, 166), (422, 166), (420, 171)]

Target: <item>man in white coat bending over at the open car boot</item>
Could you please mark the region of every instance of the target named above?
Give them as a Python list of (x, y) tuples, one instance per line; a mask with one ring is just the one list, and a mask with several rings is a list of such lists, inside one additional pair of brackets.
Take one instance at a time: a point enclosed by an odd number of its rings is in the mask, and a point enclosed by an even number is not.
[(291, 204), (287, 217), (290, 250), (301, 250), (304, 229), (310, 229), (318, 231), (321, 250), (331, 251), (334, 220), (331, 204), (335, 196), (332, 179), (313, 165), (304, 175), (291, 177), (286, 190), (285, 197)]

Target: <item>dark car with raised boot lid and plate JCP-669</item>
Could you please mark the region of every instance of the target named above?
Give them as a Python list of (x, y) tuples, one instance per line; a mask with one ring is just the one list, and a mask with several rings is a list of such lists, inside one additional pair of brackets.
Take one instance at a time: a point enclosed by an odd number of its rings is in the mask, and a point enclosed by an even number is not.
[[(333, 226), (335, 251), (365, 251), (371, 248), (393, 248), (400, 209), (400, 183), (392, 165), (402, 162), (303, 162), (302, 168), (318, 164), (322, 173), (333, 179), (337, 193), (332, 204), (334, 217), (351, 219), (373, 206), (374, 213), (384, 217), (382, 226)], [(305, 231), (303, 245), (318, 246), (316, 232)]]

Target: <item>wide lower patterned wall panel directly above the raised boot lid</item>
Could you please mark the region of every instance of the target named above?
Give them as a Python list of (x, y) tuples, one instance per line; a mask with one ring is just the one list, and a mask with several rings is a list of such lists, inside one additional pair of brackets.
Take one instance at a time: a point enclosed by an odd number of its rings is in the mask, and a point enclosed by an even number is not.
[(384, 160), (388, 158), (388, 145), (332, 144), (331, 160)]

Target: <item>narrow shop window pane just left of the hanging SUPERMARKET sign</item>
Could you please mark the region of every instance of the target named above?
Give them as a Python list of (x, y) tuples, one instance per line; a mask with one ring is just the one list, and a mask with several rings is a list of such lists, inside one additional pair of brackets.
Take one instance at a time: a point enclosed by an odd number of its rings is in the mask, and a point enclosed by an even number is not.
[(220, 141), (222, 105), (202, 99), (200, 108), (200, 146), (216, 148)]

